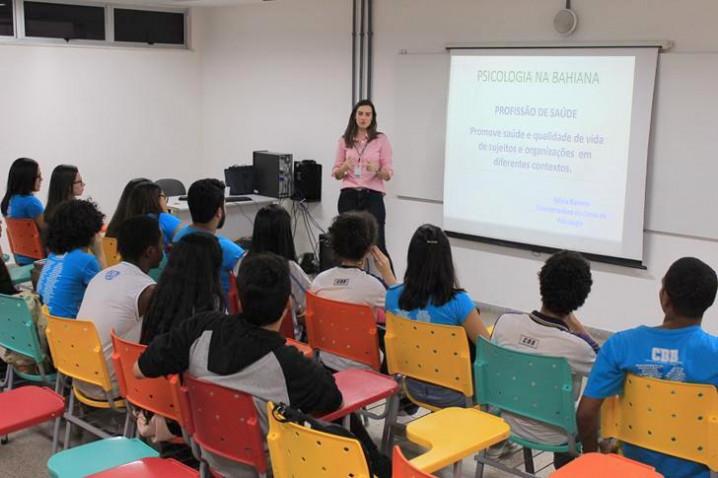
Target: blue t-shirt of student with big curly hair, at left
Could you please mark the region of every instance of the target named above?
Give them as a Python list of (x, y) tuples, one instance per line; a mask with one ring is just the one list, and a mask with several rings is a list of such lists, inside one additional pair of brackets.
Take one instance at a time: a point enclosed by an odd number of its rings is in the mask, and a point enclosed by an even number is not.
[(100, 272), (100, 263), (92, 254), (75, 249), (66, 254), (47, 256), (37, 291), (50, 314), (74, 319), (80, 310), (85, 289)]

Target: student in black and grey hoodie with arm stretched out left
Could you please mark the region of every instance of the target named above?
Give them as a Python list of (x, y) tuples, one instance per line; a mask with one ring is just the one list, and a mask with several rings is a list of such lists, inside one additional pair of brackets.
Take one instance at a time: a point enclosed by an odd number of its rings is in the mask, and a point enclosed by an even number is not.
[[(288, 402), (317, 415), (338, 409), (342, 396), (332, 374), (287, 346), (277, 332), (289, 300), (286, 260), (269, 253), (247, 257), (237, 286), (241, 314), (208, 312), (186, 320), (152, 341), (135, 365), (135, 374), (160, 377), (186, 371), (254, 395), (265, 431), (266, 400)], [(244, 465), (206, 455), (223, 476), (256, 476)]]

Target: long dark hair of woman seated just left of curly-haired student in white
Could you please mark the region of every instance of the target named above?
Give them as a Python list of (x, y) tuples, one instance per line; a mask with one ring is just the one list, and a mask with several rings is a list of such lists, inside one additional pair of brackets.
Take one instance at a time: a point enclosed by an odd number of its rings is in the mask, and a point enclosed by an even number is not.
[(273, 252), (289, 261), (297, 261), (292, 220), (286, 209), (272, 204), (259, 210), (254, 218), (251, 252)]

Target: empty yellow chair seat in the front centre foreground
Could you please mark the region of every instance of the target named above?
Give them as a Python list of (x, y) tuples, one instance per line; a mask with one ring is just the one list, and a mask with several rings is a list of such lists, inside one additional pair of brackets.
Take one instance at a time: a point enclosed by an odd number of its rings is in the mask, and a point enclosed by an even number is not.
[(475, 408), (444, 408), (406, 426), (406, 437), (429, 449), (411, 460), (412, 466), (427, 473), (499, 443), (510, 433), (502, 418)]

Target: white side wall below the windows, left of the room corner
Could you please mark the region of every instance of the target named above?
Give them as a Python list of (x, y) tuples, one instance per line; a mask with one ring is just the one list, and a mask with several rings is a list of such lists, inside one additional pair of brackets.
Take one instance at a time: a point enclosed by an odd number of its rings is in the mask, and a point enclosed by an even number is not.
[(194, 177), (200, 82), (191, 50), (0, 44), (3, 194), (19, 156), (40, 163), (43, 202), (52, 169), (74, 164), (108, 216), (130, 178)]

